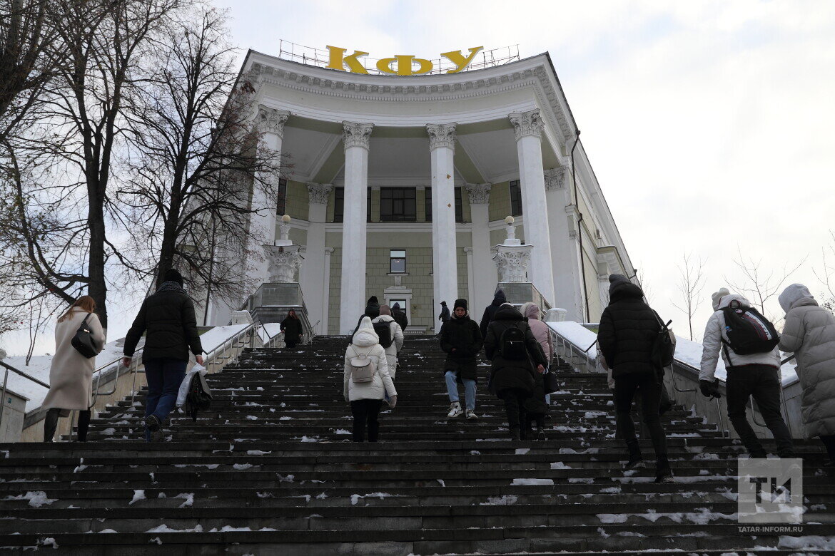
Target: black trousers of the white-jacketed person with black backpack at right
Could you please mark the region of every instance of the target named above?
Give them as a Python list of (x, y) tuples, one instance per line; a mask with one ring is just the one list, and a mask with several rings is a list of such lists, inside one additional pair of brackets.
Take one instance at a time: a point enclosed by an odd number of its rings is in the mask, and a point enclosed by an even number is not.
[(762, 420), (777, 442), (777, 454), (781, 458), (793, 458), (792, 433), (780, 414), (780, 379), (777, 368), (770, 365), (746, 365), (730, 367), (727, 373), (728, 418), (751, 456), (765, 458), (766, 450), (762, 448), (762, 443), (745, 416), (748, 398), (754, 398), (757, 402)]

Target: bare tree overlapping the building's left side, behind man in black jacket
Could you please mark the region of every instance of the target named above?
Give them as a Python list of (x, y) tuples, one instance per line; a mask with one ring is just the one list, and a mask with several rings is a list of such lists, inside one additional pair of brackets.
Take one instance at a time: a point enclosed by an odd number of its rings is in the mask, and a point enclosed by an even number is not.
[(275, 198), (286, 162), (261, 143), (254, 88), (246, 76), (236, 83), (226, 36), (225, 13), (200, 7), (157, 44), (130, 113), (130, 178), (119, 199), (132, 208), (125, 220), (158, 285), (179, 266), (195, 288), (237, 298), (251, 285), (240, 266), (255, 233), (251, 196)]

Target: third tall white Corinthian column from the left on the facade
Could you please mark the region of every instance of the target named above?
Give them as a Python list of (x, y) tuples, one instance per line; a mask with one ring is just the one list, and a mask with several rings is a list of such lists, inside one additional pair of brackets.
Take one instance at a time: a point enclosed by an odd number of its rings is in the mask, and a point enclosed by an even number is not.
[[(429, 123), (432, 159), (432, 260), (435, 306), (450, 306), (458, 298), (458, 258), (455, 242), (455, 123)], [(436, 331), (441, 322), (435, 321)]]

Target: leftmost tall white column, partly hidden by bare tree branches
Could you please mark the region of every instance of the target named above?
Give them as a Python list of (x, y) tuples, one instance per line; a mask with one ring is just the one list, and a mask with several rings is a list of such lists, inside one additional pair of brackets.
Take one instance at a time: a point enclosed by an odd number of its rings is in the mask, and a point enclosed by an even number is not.
[[(290, 113), (286, 110), (276, 110), (276, 108), (269, 108), (263, 104), (258, 105), (258, 114), (256, 115), (256, 124), (258, 131), (261, 132), (261, 147), (266, 148), (271, 153), (274, 153), (276, 158), (281, 158), (281, 147), (284, 141), (284, 124)], [(281, 176), (260, 176), (259, 179), (264, 183), (270, 183), (273, 188), (277, 188), (278, 180)], [(274, 196), (267, 196), (264, 191), (254, 186), (252, 192), (252, 208), (256, 213), (251, 214), (251, 252), (264, 253), (259, 245), (272, 245), (276, 240), (276, 204), (277, 198)], [(252, 261), (254, 267), (253, 272), (258, 277), (259, 283), (268, 282), (270, 279), (269, 263), (266, 260)]]

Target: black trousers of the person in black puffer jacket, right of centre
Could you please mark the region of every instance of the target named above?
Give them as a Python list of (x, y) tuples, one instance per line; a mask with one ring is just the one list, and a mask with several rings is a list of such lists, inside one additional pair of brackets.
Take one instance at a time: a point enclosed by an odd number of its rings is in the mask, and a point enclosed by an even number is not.
[(655, 450), (655, 457), (666, 458), (667, 439), (664, 428), (658, 415), (658, 407), (661, 401), (661, 386), (651, 373), (625, 374), (615, 378), (615, 423), (617, 432), (626, 442), (630, 455), (640, 454), (638, 438), (635, 438), (635, 423), (632, 421), (630, 411), (632, 409), (632, 398), (635, 393), (640, 393), (640, 411), (643, 422), (650, 432), (652, 448)]

